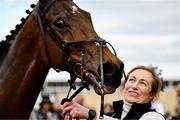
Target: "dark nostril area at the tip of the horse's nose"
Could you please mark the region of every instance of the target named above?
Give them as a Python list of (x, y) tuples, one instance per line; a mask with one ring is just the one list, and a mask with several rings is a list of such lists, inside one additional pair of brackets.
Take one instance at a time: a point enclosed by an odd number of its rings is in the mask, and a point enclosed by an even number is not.
[[(119, 87), (121, 84), (121, 78), (123, 76), (123, 68), (122, 65), (120, 68), (114, 63), (104, 63), (103, 71), (104, 71), (104, 84), (110, 85), (112, 87)], [(98, 68), (98, 73), (100, 74), (100, 67)]]

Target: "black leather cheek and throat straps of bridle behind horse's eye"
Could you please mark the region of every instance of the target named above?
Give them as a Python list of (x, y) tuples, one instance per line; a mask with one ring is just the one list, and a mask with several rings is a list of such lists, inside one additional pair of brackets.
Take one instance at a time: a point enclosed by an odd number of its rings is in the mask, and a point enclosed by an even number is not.
[[(47, 59), (48, 59), (48, 63), (49, 65), (54, 69), (56, 70), (56, 72), (59, 72), (59, 69), (53, 67), (53, 64), (52, 64), (52, 60), (51, 60), (51, 57), (50, 57), (50, 53), (49, 53), (49, 49), (48, 49), (48, 44), (47, 44), (47, 38), (45, 36), (45, 30), (48, 31), (48, 34), (51, 36), (52, 40), (56, 43), (56, 45), (62, 49), (63, 54), (65, 56), (65, 58), (67, 59), (67, 62), (68, 62), (68, 70), (70, 72), (70, 76), (71, 76), (71, 80), (70, 80), (70, 86), (75, 89), (75, 85), (73, 84), (74, 81), (76, 80), (76, 75), (75, 73), (73, 72), (73, 69), (72, 69), (72, 66), (74, 66), (74, 61), (71, 59), (70, 57), (70, 53), (65, 50), (65, 48), (63, 47), (63, 43), (62, 43), (62, 38), (59, 38), (53, 31), (53, 29), (50, 27), (50, 25), (48, 24), (48, 22), (46, 22), (46, 20), (44, 19), (45, 17), (45, 12), (49, 9), (49, 7), (55, 2), (55, 0), (51, 0), (46, 6), (45, 8), (40, 8), (40, 5), (38, 3), (37, 5), (37, 8), (36, 8), (36, 11), (37, 11), (37, 18), (38, 18), (38, 23), (39, 23), (39, 26), (40, 26), (40, 31), (41, 31), (41, 36), (42, 36), (42, 41), (43, 41), (43, 44), (44, 44), (44, 48), (45, 48), (45, 52), (46, 52), (46, 56), (47, 56)], [(71, 82), (72, 81), (72, 82)]]

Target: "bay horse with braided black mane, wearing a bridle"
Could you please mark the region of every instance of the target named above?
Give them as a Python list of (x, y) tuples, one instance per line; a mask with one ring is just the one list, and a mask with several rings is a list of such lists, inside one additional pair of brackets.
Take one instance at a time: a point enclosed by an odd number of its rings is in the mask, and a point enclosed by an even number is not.
[(81, 65), (98, 83), (99, 41), (104, 42), (104, 93), (113, 93), (124, 64), (95, 32), (90, 13), (72, 0), (39, 0), (32, 7), (0, 43), (0, 118), (29, 118), (50, 68), (67, 71), (75, 80)]

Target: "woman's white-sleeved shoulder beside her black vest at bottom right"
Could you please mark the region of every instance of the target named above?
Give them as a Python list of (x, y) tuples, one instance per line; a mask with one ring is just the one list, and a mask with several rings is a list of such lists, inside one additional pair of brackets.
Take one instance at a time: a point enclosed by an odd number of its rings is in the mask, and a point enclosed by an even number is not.
[(164, 116), (158, 112), (150, 111), (142, 115), (140, 120), (165, 120)]

